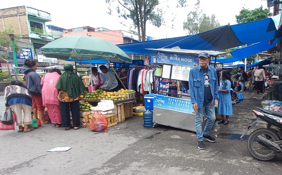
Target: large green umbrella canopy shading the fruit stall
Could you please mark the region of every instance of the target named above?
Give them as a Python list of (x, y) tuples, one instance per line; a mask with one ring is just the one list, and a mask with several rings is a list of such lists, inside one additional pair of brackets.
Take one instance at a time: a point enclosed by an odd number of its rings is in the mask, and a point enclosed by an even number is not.
[(98, 60), (132, 63), (115, 44), (92, 36), (66, 36), (40, 48), (46, 57), (63, 60)]

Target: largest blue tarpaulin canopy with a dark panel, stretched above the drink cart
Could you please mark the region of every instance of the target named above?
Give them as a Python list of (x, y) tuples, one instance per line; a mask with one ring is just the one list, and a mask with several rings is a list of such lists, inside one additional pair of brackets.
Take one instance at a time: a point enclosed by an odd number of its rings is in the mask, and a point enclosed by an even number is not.
[[(117, 45), (125, 53), (157, 55), (155, 50), (147, 48), (173, 48), (190, 50), (224, 50), (251, 43), (265, 42), (282, 36), (282, 29), (277, 30), (281, 15), (263, 20), (236, 25), (225, 25), (191, 36), (181, 36), (152, 41), (141, 41)], [(265, 49), (267, 50), (267, 49)]]

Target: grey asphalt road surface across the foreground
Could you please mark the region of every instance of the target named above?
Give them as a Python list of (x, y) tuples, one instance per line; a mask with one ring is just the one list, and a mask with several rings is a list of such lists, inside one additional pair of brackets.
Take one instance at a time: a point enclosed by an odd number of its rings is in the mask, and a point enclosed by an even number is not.
[[(0, 96), (0, 111), (4, 108)], [(282, 170), (282, 156), (271, 162), (254, 160), (245, 141), (217, 138), (199, 150), (195, 133), (162, 126), (144, 128), (140, 116), (103, 133), (89, 128), (65, 131), (51, 124), (28, 133), (17, 130), (0, 131), (1, 175), (281, 175)], [(46, 151), (57, 146), (72, 148)]]

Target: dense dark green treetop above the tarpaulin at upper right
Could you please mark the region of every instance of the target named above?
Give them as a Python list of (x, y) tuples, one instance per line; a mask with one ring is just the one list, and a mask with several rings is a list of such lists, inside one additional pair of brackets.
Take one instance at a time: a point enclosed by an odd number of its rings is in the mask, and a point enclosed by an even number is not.
[(236, 15), (237, 23), (251, 22), (256, 20), (262, 20), (272, 16), (270, 10), (265, 8), (262, 9), (262, 6), (255, 8), (255, 10), (243, 9), (240, 11), (239, 15)]

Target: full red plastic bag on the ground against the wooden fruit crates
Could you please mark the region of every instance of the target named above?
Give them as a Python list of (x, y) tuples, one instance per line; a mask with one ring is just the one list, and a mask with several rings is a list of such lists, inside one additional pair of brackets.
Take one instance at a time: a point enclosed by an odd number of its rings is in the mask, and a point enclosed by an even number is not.
[(104, 132), (108, 129), (107, 117), (99, 111), (93, 113), (93, 117), (89, 121), (91, 131)]

